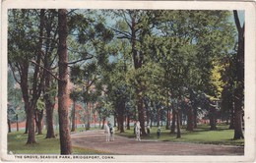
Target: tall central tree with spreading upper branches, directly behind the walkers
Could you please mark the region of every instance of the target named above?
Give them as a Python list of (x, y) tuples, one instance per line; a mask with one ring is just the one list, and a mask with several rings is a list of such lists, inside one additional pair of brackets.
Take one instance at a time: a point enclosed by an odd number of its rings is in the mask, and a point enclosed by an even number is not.
[[(126, 38), (130, 41), (131, 46), (131, 56), (133, 59), (133, 66), (135, 70), (142, 68), (144, 64), (144, 52), (140, 50), (140, 41), (143, 37), (149, 34), (148, 27), (150, 27), (150, 20), (147, 17), (147, 11), (142, 10), (119, 10), (114, 12), (115, 16), (123, 19), (121, 22), (117, 22), (117, 27), (114, 31), (118, 38)], [(145, 27), (145, 28), (144, 28)], [(138, 85), (135, 86), (135, 91), (137, 95), (137, 109), (138, 118), (141, 125), (142, 135), (146, 136), (145, 131), (145, 114), (146, 110), (143, 103), (143, 83), (140, 81), (140, 77), (136, 79)]]

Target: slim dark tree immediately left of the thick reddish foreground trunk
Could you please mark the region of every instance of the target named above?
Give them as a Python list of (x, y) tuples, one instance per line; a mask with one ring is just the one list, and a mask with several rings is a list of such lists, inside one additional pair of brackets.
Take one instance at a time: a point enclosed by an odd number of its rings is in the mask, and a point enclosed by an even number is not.
[(50, 9), (46, 10), (45, 13), (45, 52), (43, 59), (43, 67), (45, 78), (44, 78), (44, 89), (43, 89), (43, 100), (46, 111), (46, 128), (47, 133), (45, 138), (53, 138), (54, 129), (53, 129), (53, 109), (55, 97), (57, 96), (57, 81), (56, 78), (52, 76), (52, 65), (55, 63), (55, 51), (57, 46), (57, 11)]

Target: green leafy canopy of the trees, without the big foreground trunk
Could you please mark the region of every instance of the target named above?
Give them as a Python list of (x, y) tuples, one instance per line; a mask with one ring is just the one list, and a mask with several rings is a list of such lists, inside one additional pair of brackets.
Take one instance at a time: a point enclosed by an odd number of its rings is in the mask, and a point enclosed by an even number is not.
[[(46, 10), (44, 18), (52, 31), (57, 31), (55, 12)], [(236, 84), (235, 55), (231, 54), (236, 32), (230, 16), (229, 11), (218, 10), (70, 11), (68, 49), (69, 60), (74, 61), (69, 64), (74, 84), (70, 98), (97, 103), (102, 117), (113, 114), (120, 101), (126, 103), (127, 113), (136, 115), (139, 96), (146, 105), (156, 104), (147, 106), (156, 113), (159, 108), (164, 113), (171, 101), (190, 97), (190, 91), (200, 102), (203, 97), (199, 96), (204, 96), (205, 101), (210, 97), (231, 103), (228, 94)], [(38, 10), (10, 10), (8, 17), (9, 63), (31, 66), (28, 61), (38, 53)], [(50, 37), (56, 39), (57, 34)], [(43, 50), (54, 54), (55, 46), (51, 43), (51, 50)], [(54, 56), (50, 57), (56, 64)], [(228, 57), (230, 62), (224, 63)], [(30, 89), (33, 68), (29, 69)], [(19, 68), (13, 70), (21, 80)], [(56, 84), (45, 93), (54, 96)], [(14, 85), (10, 78), (9, 87)], [(13, 99), (8, 100), (13, 104)]]

